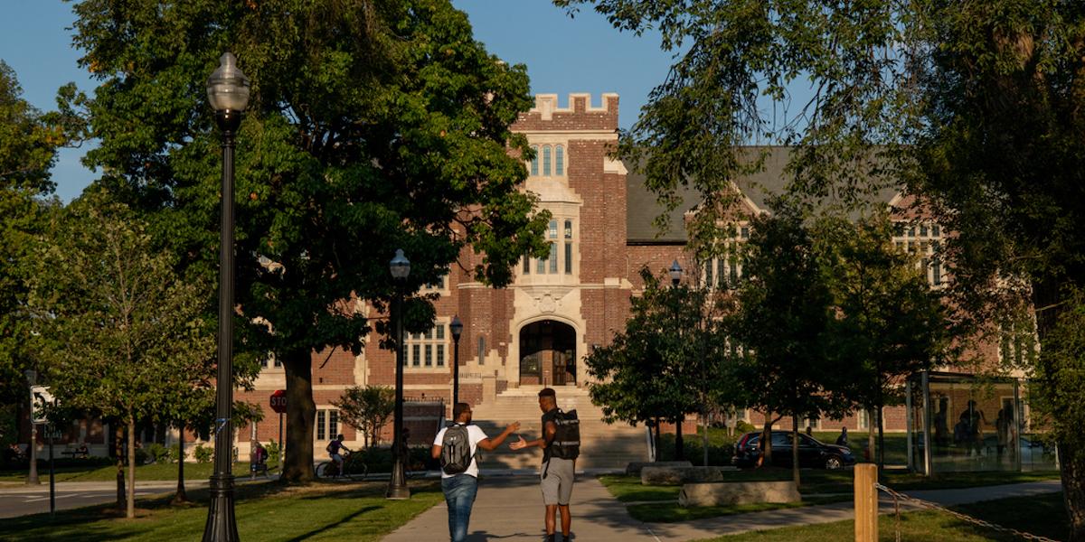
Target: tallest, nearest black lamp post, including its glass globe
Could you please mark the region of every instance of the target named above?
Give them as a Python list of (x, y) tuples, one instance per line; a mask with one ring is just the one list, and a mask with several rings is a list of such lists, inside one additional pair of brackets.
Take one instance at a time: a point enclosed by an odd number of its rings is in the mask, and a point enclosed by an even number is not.
[(238, 537), (233, 515), (233, 142), (241, 114), (248, 105), (248, 78), (232, 53), (219, 59), (218, 69), (207, 79), (207, 101), (215, 109), (215, 124), (222, 132), (222, 214), (219, 241), (218, 282), (218, 393), (215, 399), (215, 474), (210, 476), (210, 507), (204, 542), (232, 542)]

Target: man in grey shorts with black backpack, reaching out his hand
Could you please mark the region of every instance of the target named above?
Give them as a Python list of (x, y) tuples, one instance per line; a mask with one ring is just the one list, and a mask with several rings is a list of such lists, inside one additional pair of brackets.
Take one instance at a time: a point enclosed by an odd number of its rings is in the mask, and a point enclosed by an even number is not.
[(573, 496), (573, 481), (576, 477), (576, 457), (580, 454), (580, 426), (576, 411), (563, 412), (558, 408), (558, 396), (553, 388), (539, 391), (539, 409), (542, 411), (542, 438), (524, 440), (509, 444), (513, 450), (538, 447), (542, 449), (542, 504), (546, 505), (546, 540), (556, 542), (554, 524), (561, 512), (561, 535), (570, 541), (573, 518), (569, 512), (569, 501)]

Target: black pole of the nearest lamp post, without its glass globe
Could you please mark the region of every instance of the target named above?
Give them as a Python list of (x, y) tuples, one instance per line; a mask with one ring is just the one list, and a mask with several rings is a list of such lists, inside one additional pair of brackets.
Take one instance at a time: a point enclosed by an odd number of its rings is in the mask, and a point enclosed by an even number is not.
[(218, 377), (215, 408), (215, 474), (210, 477), (210, 507), (204, 527), (204, 542), (232, 542), (238, 537), (233, 515), (233, 137), (241, 114), (218, 112), (215, 120), (222, 131), (222, 216), (219, 225), (218, 286)]

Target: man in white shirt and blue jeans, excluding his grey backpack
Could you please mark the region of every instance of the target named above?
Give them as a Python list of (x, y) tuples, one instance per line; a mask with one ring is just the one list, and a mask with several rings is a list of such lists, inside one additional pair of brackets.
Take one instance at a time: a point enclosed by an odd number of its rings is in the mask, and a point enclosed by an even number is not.
[[(513, 422), (501, 431), (496, 438), (487, 438), (486, 434), (476, 426), (471, 425), (471, 405), (468, 403), (456, 403), (452, 406), (454, 425), (462, 425), (468, 430), (468, 441), (471, 443), (471, 464), (467, 470), (459, 474), (441, 473), (441, 490), (445, 493), (445, 502), (448, 504), (448, 534), (452, 542), (462, 542), (468, 535), (468, 524), (471, 521), (471, 507), (474, 505), (475, 495), (478, 493), (478, 462), (475, 460), (475, 452), (478, 448), (483, 450), (495, 450), (505, 442), (514, 431), (520, 429), (520, 422)], [(441, 429), (433, 439), (431, 454), (433, 459), (441, 457), (444, 448), (443, 442), (448, 427)]]

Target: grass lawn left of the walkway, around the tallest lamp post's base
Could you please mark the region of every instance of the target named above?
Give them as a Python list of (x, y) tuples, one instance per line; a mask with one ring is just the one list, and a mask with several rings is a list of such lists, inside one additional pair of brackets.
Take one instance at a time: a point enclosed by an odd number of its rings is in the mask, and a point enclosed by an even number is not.
[[(434, 481), (411, 483), (411, 499), (384, 499), (387, 482), (317, 482), (284, 487), (273, 482), (237, 488), (238, 530), (247, 540), (376, 541), (443, 501)], [(0, 519), (0, 540), (199, 540), (207, 519), (207, 491), (190, 491), (190, 505), (170, 506), (167, 498), (138, 501), (138, 517), (118, 518), (101, 505)]]

